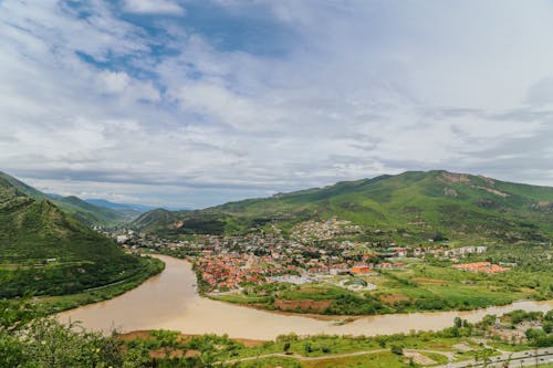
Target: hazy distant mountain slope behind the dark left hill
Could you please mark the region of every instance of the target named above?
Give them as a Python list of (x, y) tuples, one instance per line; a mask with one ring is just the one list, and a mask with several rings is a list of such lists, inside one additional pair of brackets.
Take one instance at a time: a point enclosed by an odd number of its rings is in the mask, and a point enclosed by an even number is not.
[(117, 224), (129, 221), (139, 214), (137, 212), (125, 212), (96, 206), (74, 196), (61, 197), (56, 194), (46, 194), (1, 171), (0, 178), (12, 185), (21, 193), (35, 200), (49, 200), (63, 211), (88, 225)]

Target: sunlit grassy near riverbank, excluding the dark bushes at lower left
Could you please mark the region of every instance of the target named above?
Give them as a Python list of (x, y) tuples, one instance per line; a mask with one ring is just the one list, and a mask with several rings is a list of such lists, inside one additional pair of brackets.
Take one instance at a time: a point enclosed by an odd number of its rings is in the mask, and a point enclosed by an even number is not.
[[(508, 364), (532, 358), (549, 361), (553, 341), (549, 328), (553, 315), (514, 312), (503, 316), (500, 325), (495, 318), (483, 318), (471, 324), (456, 320), (439, 332), (410, 332), (408, 334), (367, 336), (316, 335), (279, 336), (275, 340), (252, 341), (216, 335), (187, 335), (169, 330), (136, 332), (119, 338), (131, 348), (144, 348), (159, 361), (211, 358), (213, 365), (232, 367), (413, 367), (439, 366), (463, 368), (484, 361)], [(532, 322), (542, 330), (531, 338), (505, 341), (505, 332), (520, 330)], [(538, 330), (536, 329), (536, 330)], [(196, 361), (196, 360), (195, 360)], [(176, 361), (175, 361), (176, 362)]]

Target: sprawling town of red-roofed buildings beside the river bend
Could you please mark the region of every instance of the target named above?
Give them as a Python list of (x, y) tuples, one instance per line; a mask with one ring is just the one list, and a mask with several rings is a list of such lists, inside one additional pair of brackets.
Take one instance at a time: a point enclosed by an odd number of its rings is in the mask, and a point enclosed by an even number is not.
[[(379, 271), (408, 267), (406, 260), (424, 261), (426, 257), (449, 260), (455, 263), (453, 269), (469, 272), (510, 270), (489, 262), (459, 263), (469, 254), (486, 253), (487, 246), (481, 245), (450, 249), (436, 243), (400, 246), (393, 242), (354, 242), (348, 238), (359, 228), (335, 218), (302, 222), (292, 229), (288, 239), (275, 225), (270, 230), (242, 236), (194, 235), (186, 240), (168, 240), (132, 230), (109, 234), (129, 250), (150, 249), (187, 257), (198, 270), (202, 291), (211, 293), (279, 282), (299, 285), (327, 282), (351, 290), (374, 290), (376, 286), (369, 283), (345, 285), (347, 277), (336, 276), (378, 276)], [(321, 242), (324, 246), (320, 246)]]

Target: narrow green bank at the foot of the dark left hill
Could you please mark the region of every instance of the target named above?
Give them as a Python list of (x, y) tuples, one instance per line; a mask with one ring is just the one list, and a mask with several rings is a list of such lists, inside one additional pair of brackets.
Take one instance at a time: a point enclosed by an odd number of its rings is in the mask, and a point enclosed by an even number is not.
[(48, 314), (52, 314), (112, 299), (142, 285), (165, 270), (165, 263), (161, 260), (148, 257), (148, 261), (144, 269), (123, 281), (76, 294), (36, 297), (36, 302), (44, 307)]

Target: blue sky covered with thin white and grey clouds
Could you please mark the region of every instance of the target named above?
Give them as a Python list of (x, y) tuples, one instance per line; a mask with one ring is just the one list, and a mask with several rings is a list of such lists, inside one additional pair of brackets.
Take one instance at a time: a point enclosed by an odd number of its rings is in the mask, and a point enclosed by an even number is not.
[(553, 186), (551, 0), (0, 0), (0, 170), (204, 208), (447, 169)]

